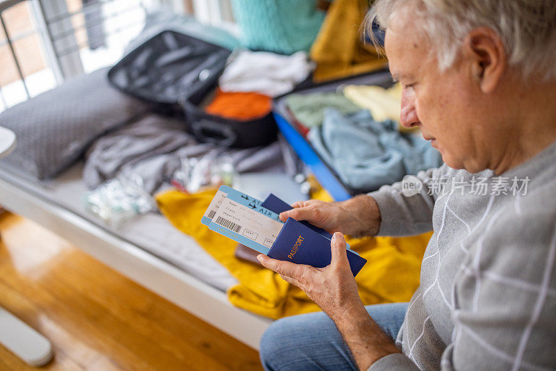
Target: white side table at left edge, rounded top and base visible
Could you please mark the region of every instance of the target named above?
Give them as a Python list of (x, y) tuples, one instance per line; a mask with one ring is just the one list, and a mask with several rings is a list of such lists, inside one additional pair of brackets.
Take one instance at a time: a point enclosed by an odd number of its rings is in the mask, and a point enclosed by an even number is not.
[[(15, 133), (0, 126), (0, 158), (15, 149)], [(54, 355), (47, 338), (0, 306), (0, 344), (32, 366), (47, 364)]]

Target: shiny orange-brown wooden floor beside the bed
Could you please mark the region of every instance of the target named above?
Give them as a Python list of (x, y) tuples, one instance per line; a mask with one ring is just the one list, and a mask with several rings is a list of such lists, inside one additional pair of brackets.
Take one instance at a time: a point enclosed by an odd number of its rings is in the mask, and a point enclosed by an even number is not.
[[(17, 215), (0, 215), (0, 306), (47, 336), (45, 370), (261, 370), (259, 355)], [(0, 370), (26, 370), (0, 346)]]

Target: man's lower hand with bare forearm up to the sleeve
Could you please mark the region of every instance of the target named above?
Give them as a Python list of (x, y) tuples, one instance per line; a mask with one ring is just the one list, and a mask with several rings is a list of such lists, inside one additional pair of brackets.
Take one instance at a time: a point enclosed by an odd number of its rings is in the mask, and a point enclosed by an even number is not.
[(263, 254), (257, 258), (262, 265), (301, 288), (327, 313), (350, 347), (359, 370), (367, 370), (379, 358), (400, 353), (400, 349), (370, 318), (363, 306), (347, 261), (342, 233), (334, 233), (331, 248), (332, 261), (324, 268), (278, 261)]

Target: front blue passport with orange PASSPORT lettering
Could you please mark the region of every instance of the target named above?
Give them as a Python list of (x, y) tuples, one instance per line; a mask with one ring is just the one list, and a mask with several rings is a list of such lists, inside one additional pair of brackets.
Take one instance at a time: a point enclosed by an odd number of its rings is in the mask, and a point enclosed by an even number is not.
[[(350, 262), (355, 277), (367, 260), (351, 250), (346, 251), (347, 261)], [(332, 261), (330, 240), (291, 217), (286, 220), (267, 255), (280, 261), (307, 264), (317, 268), (326, 267)]]

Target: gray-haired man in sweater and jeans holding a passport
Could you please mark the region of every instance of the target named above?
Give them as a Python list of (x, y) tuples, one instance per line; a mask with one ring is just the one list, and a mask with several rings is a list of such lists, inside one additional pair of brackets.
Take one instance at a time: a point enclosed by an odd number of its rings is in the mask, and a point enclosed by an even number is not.
[[(263, 365), (556, 369), (555, 1), (378, 0), (373, 19), (403, 85), (401, 123), (420, 127), (445, 165), (413, 187), (280, 215), (336, 233), (322, 269), (259, 256), (326, 313), (272, 324)], [(430, 230), (409, 305), (364, 307), (342, 233)]]

